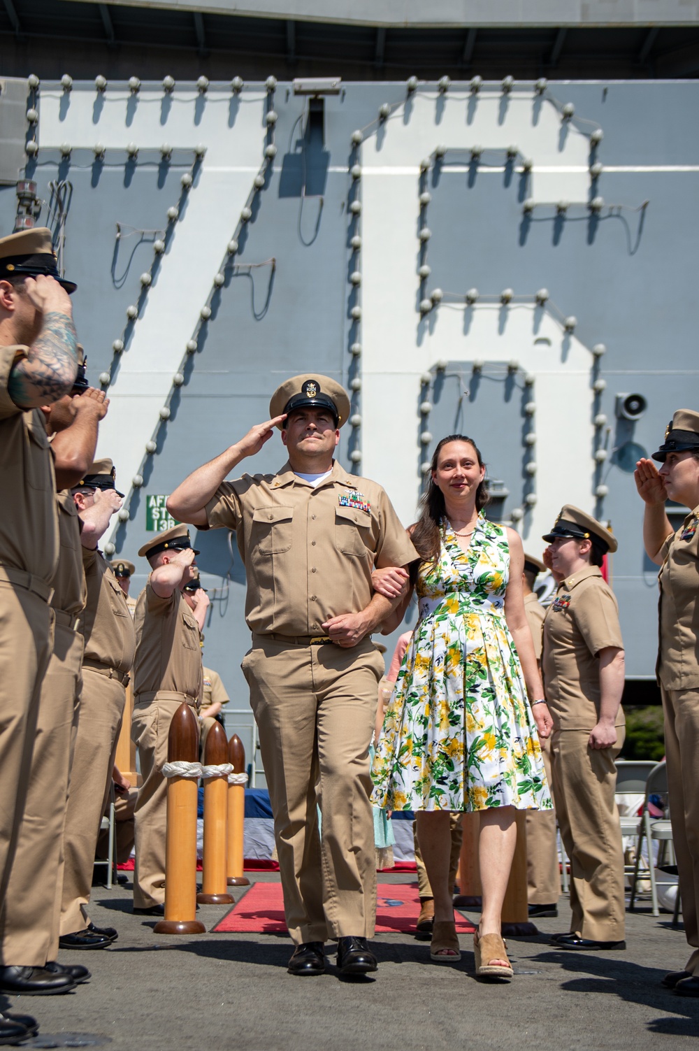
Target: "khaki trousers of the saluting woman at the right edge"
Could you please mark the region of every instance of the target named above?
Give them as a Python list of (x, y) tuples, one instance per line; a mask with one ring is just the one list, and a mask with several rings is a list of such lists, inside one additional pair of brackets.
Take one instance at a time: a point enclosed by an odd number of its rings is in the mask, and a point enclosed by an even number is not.
[(699, 689), (664, 689), (665, 758), (673, 844), (684, 933), (694, 949), (685, 966), (699, 974)]

